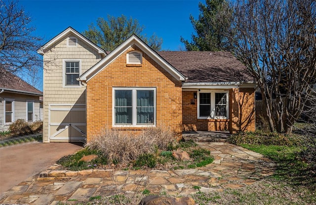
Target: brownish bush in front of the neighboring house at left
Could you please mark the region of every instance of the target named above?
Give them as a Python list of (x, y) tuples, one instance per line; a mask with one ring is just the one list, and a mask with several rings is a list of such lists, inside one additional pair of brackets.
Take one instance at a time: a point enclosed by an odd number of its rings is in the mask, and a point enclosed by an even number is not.
[(30, 135), (42, 132), (43, 122), (36, 121), (34, 123), (28, 123), (24, 119), (17, 119), (9, 126), (9, 132), (12, 137)]

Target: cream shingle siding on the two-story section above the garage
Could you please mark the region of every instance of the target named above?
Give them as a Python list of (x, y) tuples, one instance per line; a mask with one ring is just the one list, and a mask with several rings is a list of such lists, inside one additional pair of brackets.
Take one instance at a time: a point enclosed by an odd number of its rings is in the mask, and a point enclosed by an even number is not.
[(49, 104), (85, 104), (85, 86), (64, 87), (63, 61), (65, 59), (80, 60), (82, 74), (101, 60), (101, 54), (78, 38), (77, 47), (67, 46), (68, 34), (45, 49), (43, 54), (43, 141), (48, 142)]

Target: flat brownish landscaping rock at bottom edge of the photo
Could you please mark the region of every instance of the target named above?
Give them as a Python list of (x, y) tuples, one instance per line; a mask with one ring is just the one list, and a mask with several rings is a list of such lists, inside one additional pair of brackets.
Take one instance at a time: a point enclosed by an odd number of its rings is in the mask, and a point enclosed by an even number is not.
[(173, 198), (150, 195), (142, 199), (139, 205), (195, 205), (195, 201), (190, 197)]

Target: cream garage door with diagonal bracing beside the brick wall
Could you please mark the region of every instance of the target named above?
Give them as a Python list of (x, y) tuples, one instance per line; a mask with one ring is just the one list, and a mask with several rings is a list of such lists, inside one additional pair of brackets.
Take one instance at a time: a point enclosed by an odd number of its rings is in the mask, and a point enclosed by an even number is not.
[(85, 105), (50, 104), (48, 136), (51, 142), (85, 142)]

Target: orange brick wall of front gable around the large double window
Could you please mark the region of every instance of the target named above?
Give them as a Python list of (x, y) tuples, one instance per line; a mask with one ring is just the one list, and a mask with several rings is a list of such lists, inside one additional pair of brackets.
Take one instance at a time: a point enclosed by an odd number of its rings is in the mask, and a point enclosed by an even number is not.
[[(103, 129), (112, 129), (113, 87), (156, 87), (156, 125), (182, 132), (181, 81), (174, 79), (149, 56), (143, 53), (142, 66), (126, 65), (122, 53), (109, 66), (87, 82), (87, 141)], [(116, 128), (115, 128), (116, 129)], [(118, 128), (138, 132), (142, 128)]]

